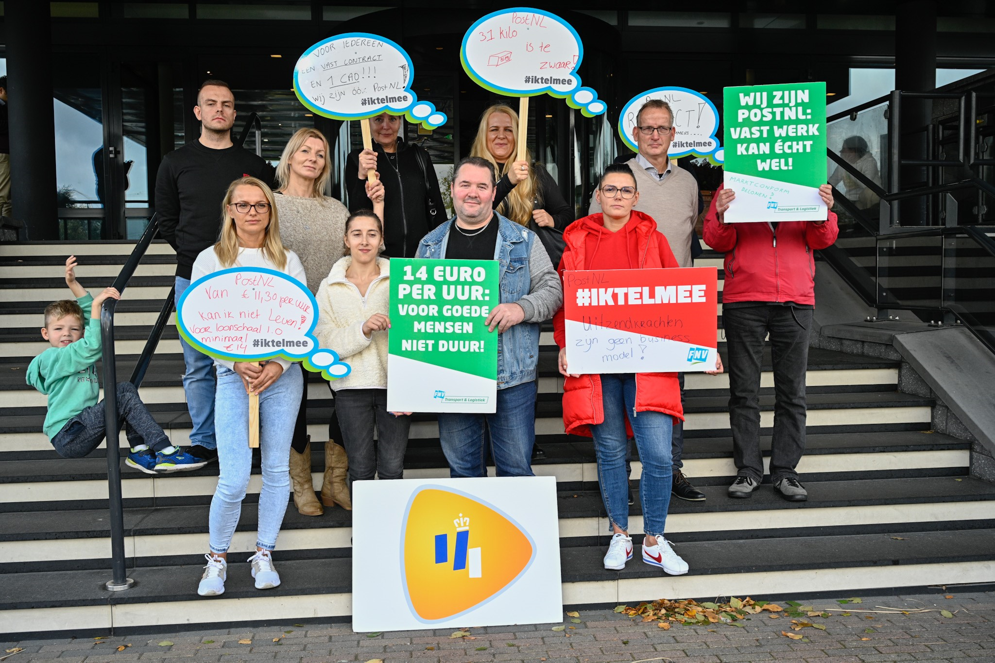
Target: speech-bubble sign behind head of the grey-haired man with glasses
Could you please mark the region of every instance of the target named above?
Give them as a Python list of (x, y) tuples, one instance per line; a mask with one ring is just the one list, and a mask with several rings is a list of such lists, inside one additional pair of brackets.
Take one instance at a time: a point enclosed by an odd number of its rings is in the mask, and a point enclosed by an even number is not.
[(718, 110), (711, 99), (687, 87), (655, 87), (629, 99), (619, 115), (619, 136), (630, 149), (639, 151), (639, 146), (632, 137), (632, 130), (636, 126), (639, 109), (650, 99), (667, 101), (674, 111), (675, 135), (668, 151), (670, 158), (693, 154), (706, 157), (715, 164), (722, 162), (722, 155), (718, 154), (721, 147), (715, 136), (718, 131)]

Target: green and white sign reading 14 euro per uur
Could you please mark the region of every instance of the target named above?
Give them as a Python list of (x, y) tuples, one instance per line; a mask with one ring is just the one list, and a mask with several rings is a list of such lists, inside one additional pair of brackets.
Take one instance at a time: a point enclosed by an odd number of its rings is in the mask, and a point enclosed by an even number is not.
[(497, 260), (390, 260), (390, 412), (493, 413)]

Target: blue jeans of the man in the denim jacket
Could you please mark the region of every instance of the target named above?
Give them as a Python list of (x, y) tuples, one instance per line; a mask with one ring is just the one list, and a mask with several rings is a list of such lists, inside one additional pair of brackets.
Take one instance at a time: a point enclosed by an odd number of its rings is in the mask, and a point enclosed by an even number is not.
[(497, 390), (495, 414), (439, 414), (439, 441), (454, 479), (487, 476), (485, 427), (497, 476), (535, 476), (535, 382)]

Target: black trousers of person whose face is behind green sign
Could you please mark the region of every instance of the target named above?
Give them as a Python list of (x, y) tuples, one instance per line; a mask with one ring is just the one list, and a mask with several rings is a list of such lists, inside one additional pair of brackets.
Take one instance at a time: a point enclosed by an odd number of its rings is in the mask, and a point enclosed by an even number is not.
[(722, 309), (728, 350), (729, 423), (732, 458), (740, 476), (763, 479), (760, 451), (760, 371), (764, 337), (770, 334), (774, 368), (774, 432), (770, 479), (798, 476), (805, 453), (805, 371), (812, 309), (760, 305)]

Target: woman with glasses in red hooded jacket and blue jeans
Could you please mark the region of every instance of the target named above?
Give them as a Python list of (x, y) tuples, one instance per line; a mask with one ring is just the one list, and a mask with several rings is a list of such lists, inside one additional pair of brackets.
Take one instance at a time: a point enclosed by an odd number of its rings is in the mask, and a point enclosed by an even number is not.
[[(584, 217), (563, 232), (563, 272), (575, 269), (638, 269), (677, 267), (667, 239), (652, 217), (632, 208), (639, 200), (636, 178), (625, 164), (605, 170), (597, 200), (603, 214)], [(635, 434), (643, 476), (643, 562), (671, 575), (688, 573), (688, 564), (664, 539), (671, 501), (671, 434), (674, 419), (684, 419), (676, 373), (576, 375), (566, 365), (563, 309), (553, 317), (553, 336), (560, 347), (563, 422), (568, 433), (594, 438), (601, 498), (614, 536), (605, 555), (605, 569), (620, 570), (632, 559), (628, 534), (629, 500), (625, 458), (629, 434)]]

